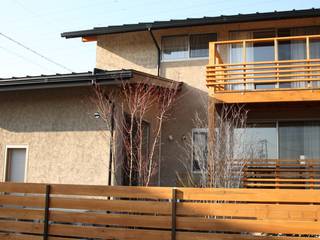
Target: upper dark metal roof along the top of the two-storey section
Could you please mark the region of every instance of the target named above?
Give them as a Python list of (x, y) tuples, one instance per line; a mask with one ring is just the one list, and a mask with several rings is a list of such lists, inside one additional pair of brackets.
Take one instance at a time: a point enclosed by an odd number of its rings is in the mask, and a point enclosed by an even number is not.
[(181, 20), (169, 20), (169, 21), (156, 21), (156, 22), (145, 22), (137, 24), (125, 24), (118, 26), (108, 27), (96, 27), (89, 30), (64, 32), (61, 34), (65, 38), (77, 38), (77, 37), (90, 37), (105, 34), (114, 33), (126, 33), (126, 32), (138, 32), (146, 31), (147, 29), (159, 30), (165, 28), (179, 28), (179, 27), (191, 27), (191, 26), (202, 26), (202, 25), (214, 25), (224, 23), (241, 23), (241, 22), (253, 22), (253, 21), (264, 21), (264, 20), (279, 20), (279, 19), (290, 19), (290, 18), (308, 18), (308, 17), (319, 17), (320, 9), (304, 9), (304, 10), (290, 10), (281, 12), (265, 12), (265, 13), (251, 13), (251, 14), (238, 14), (228, 16), (217, 16), (217, 17), (203, 17), (203, 18), (187, 18)]

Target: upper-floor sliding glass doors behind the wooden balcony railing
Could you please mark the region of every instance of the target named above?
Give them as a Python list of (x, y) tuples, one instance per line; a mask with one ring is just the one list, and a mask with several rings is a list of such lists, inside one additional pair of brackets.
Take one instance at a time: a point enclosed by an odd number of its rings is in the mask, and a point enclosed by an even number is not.
[[(279, 28), (265, 29), (256, 31), (234, 31), (230, 32), (230, 40), (243, 39), (261, 39), (274, 37), (292, 37), (319, 35), (320, 26), (299, 27), (299, 28)], [(320, 71), (315, 67), (306, 68), (305, 63), (309, 59), (320, 59), (320, 37), (306, 39), (277, 39), (275, 41), (247, 41), (243, 43), (230, 44), (229, 62), (232, 64), (240, 64), (237, 66), (247, 67), (249, 70), (232, 71), (232, 82), (242, 82), (247, 80), (272, 81), (276, 79), (286, 80), (280, 83), (245, 83), (232, 84), (231, 90), (254, 90), (254, 89), (272, 89), (272, 88), (307, 88), (310, 85), (320, 87), (320, 81), (306, 81), (301, 76), (310, 74), (309, 78), (320, 78)], [(308, 46), (307, 46), (308, 45)], [(245, 51), (243, 47), (245, 46)], [(275, 49), (277, 48), (277, 49)], [(307, 49), (309, 51), (307, 51)], [(259, 63), (260, 73), (250, 73), (250, 68)], [(299, 67), (299, 65), (301, 67)], [(291, 68), (291, 66), (293, 66)], [(265, 67), (265, 68), (263, 68)], [(274, 72), (272, 71), (274, 70)], [(269, 72), (268, 72), (269, 71)], [(271, 73), (270, 73), (271, 71)], [(237, 75), (237, 73), (239, 73)], [(243, 76), (243, 79), (241, 77)], [(254, 76), (254, 78), (250, 78)], [(302, 78), (302, 79), (301, 79)], [(292, 81), (291, 81), (292, 79)], [(314, 79), (317, 80), (317, 79)]]

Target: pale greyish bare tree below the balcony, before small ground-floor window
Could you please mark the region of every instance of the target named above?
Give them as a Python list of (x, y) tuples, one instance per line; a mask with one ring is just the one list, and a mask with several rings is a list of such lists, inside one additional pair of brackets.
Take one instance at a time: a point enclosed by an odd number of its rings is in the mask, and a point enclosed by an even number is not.
[[(243, 105), (220, 105), (214, 119), (214, 127), (208, 127), (208, 117), (195, 114), (194, 127), (208, 132), (206, 138), (198, 139), (192, 139), (190, 134), (181, 146), (184, 150), (181, 162), (186, 173), (184, 177), (177, 173), (177, 178), (183, 186), (240, 187), (243, 167), (252, 156), (252, 147), (245, 141), (247, 111)], [(190, 161), (185, 161), (190, 156), (197, 173), (191, 169)]]

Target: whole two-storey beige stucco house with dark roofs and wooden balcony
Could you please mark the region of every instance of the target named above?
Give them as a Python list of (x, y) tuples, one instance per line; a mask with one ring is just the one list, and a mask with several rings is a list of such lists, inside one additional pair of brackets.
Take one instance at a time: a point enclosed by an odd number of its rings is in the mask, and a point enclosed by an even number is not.
[[(161, 129), (155, 185), (174, 186), (177, 174), (199, 174), (195, 146), (210, 138), (216, 124), (210, 113), (219, 113), (221, 106), (244, 104), (248, 111), (246, 139), (256, 146), (248, 157), (320, 158), (320, 9), (99, 27), (62, 37), (95, 41), (96, 67), (105, 75), (134, 69), (158, 83), (183, 82)], [(86, 84), (95, 76), (88, 76)], [(96, 109), (79, 104), (88, 87), (75, 87), (71, 79), (82, 74), (39, 76), (37, 84), (30, 78), (4, 82), (48, 85), (53, 78), (65, 87), (1, 94), (3, 172), (14, 154), (28, 155), (28, 181), (107, 184), (110, 146), (100, 131), (110, 131), (92, 118)], [(208, 114), (211, 100), (214, 108)], [(195, 119), (203, 122), (195, 124)]]

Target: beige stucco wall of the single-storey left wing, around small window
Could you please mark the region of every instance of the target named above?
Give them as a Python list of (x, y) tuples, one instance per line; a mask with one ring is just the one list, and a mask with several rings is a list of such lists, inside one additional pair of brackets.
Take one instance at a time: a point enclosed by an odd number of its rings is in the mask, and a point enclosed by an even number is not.
[(27, 182), (107, 184), (109, 132), (85, 88), (0, 93), (0, 180), (6, 145), (26, 145)]

